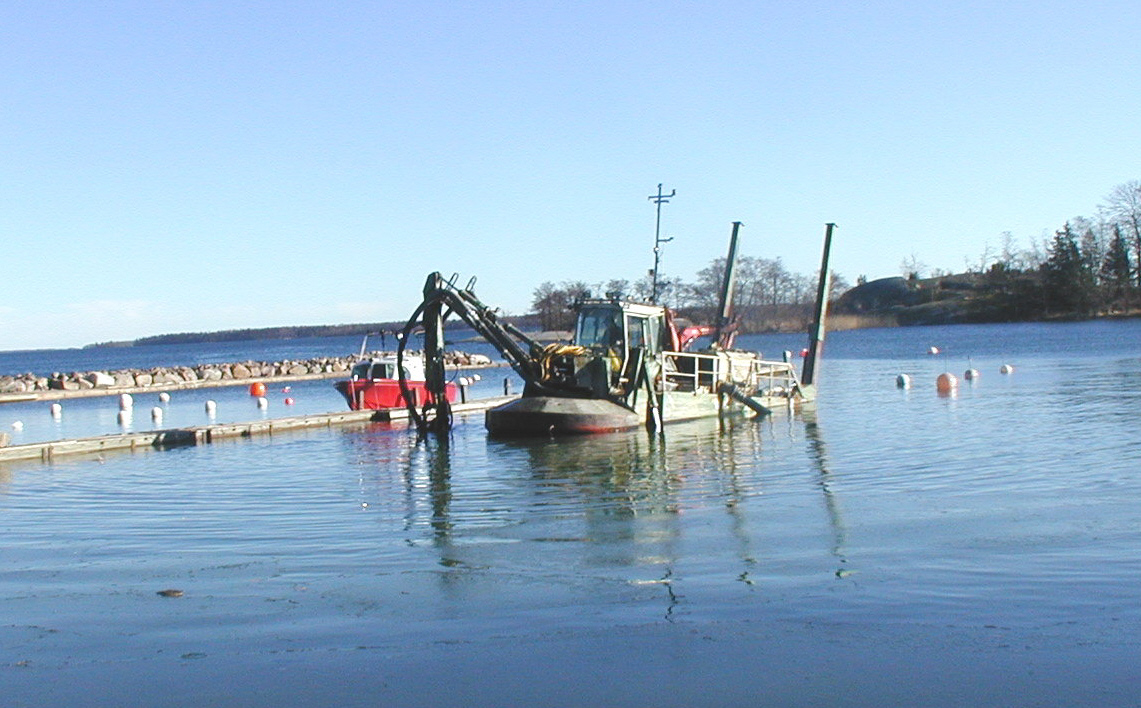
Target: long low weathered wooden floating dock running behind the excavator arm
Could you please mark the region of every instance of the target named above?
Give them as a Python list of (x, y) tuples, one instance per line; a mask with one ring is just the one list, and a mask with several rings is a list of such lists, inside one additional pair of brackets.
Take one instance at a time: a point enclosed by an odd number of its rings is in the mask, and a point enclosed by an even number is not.
[[(515, 396), (482, 398), (462, 404), (453, 404), (455, 415), (477, 413), (513, 400)], [(308, 430), (314, 428), (331, 428), (350, 423), (375, 423), (407, 420), (408, 412), (404, 408), (385, 410), (345, 410), (338, 413), (318, 413), (284, 418), (269, 418), (244, 423), (215, 423), (194, 428), (173, 428), (168, 430), (151, 430), (146, 432), (113, 433), (91, 438), (72, 438), (67, 440), (47, 440), (0, 447), (0, 463), (10, 461), (41, 459), (50, 462), (60, 456), (98, 455), (115, 450), (157, 449), (167, 450), (177, 447), (209, 445), (221, 440), (272, 436), (291, 430)]]

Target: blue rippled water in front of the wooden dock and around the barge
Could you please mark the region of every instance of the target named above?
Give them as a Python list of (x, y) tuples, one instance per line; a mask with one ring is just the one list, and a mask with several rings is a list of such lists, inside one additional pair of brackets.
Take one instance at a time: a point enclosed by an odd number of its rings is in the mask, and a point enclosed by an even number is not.
[(828, 352), (814, 408), (661, 438), (471, 416), (0, 467), (5, 702), (1141, 702), (1141, 326)]

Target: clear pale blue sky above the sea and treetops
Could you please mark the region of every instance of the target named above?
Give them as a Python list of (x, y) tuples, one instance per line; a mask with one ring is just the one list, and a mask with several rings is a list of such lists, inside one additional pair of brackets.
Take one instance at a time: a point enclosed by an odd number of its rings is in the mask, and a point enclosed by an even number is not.
[(1141, 178), (1132, 2), (0, 0), (0, 349), (404, 319), (428, 272), (958, 270)]

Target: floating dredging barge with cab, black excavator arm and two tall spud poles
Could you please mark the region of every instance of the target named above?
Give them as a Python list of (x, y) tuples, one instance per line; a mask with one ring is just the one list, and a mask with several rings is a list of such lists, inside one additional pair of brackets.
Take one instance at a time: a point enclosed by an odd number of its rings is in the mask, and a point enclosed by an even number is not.
[[(733, 349), (739, 227), (741, 222), (734, 222), (718, 324), (702, 328), (702, 333), (713, 335), (712, 344), (701, 351), (688, 350), (689, 337), (679, 332), (669, 308), (617, 294), (577, 302), (573, 342), (543, 347), (509, 323), (501, 323), (472, 292), (475, 278), (461, 288), (455, 285), (456, 276), (429, 275), (423, 301), (405, 325), (397, 349), (400, 360), (411, 332), (423, 327), (424, 386), (432, 400), (422, 407), (410, 404), (410, 418), (421, 434), (451, 428), (443, 365), (444, 320), (451, 314), (494, 345), (524, 381), (520, 398), (486, 412), (486, 428), (495, 437), (599, 433), (639, 426), (657, 431), (677, 421), (743, 412), (768, 415), (776, 408), (812, 400), (824, 343), (828, 254), (835, 225), (828, 223), (825, 231), (815, 322), (799, 376), (788, 356), (764, 360), (756, 352)], [(397, 371), (406, 400), (414, 400), (407, 394), (411, 384), (403, 367), (398, 365)]]

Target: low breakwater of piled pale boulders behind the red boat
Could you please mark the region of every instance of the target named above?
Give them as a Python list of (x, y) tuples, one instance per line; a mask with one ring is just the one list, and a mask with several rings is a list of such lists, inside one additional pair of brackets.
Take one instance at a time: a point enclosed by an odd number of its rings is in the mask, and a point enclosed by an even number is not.
[[(382, 356), (372, 352), (371, 356)], [(482, 355), (447, 352), (448, 366), (487, 366)], [(63, 398), (136, 393), (219, 385), (240, 385), (252, 381), (289, 381), (331, 379), (348, 375), (359, 358), (321, 357), (302, 361), (238, 361), (235, 364), (201, 364), (197, 366), (154, 367), (107, 372), (52, 373), (50, 376), (18, 374), (0, 376), (0, 399)]]

